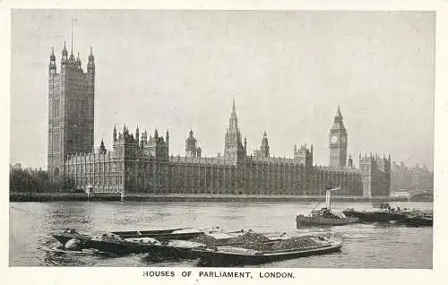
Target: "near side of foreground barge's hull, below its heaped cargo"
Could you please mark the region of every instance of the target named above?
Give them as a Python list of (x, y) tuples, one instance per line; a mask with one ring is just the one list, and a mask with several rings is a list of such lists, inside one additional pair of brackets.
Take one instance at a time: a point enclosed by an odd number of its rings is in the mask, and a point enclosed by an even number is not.
[(261, 244), (195, 247), (192, 252), (200, 259), (200, 265), (202, 266), (235, 266), (267, 263), (309, 255), (325, 255), (340, 251), (341, 246), (342, 240), (340, 238), (336, 238), (330, 233), (320, 233)]

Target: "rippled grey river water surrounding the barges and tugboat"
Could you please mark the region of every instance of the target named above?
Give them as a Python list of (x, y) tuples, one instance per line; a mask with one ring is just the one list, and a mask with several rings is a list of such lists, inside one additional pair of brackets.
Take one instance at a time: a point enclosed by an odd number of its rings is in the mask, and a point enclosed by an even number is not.
[[(333, 230), (344, 242), (332, 255), (266, 263), (264, 267), (432, 268), (433, 229), (397, 225), (352, 224), (327, 229), (296, 229), (296, 214), (315, 203), (10, 203), (11, 266), (197, 266), (198, 261), (154, 261), (148, 255), (116, 256), (91, 249), (61, 250), (51, 231), (73, 228), (85, 233), (112, 230), (254, 229), (302, 233)], [(432, 209), (432, 203), (392, 203), (402, 208)], [(348, 207), (370, 209), (371, 203), (332, 203), (335, 212)]]

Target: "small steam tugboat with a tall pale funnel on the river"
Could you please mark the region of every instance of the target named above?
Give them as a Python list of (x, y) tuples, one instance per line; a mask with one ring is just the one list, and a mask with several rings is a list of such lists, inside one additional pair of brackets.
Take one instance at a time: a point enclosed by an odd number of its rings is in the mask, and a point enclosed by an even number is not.
[(359, 220), (357, 217), (344, 217), (341, 214), (332, 212), (332, 191), (336, 190), (340, 190), (340, 187), (327, 188), (325, 195), (325, 207), (321, 210), (314, 210), (317, 207), (317, 204), (307, 216), (302, 214), (297, 215), (297, 228), (302, 226), (341, 226), (358, 222)]

